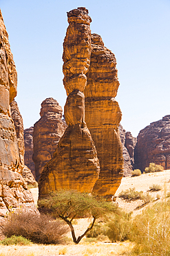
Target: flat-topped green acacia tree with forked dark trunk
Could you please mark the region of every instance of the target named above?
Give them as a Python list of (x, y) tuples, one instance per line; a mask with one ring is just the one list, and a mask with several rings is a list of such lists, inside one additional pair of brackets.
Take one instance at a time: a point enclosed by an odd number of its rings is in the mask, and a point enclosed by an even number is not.
[[(117, 212), (118, 206), (113, 202), (107, 202), (101, 197), (87, 193), (74, 190), (57, 190), (39, 200), (39, 209), (43, 212), (50, 212), (56, 218), (63, 219), (70, 226), (74, 243), (78, 244), (87, 232), (92, 230), (96, 219)], [(93, 221), (83, 235), (76, 238), (72, 221), (82, 217), (92, 217)]]

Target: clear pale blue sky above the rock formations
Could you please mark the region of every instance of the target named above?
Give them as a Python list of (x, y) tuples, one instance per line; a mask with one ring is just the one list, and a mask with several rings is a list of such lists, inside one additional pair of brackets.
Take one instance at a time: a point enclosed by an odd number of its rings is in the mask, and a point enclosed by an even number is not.
[(39, 120), (41, 102), (63, 107), (63, 39), (66, 12), (84, 6), (117, 59), (120, 86), (116, 100), (121, 124), (140, 129), (170, 114), (170, 0), (0, 0), (18, 72), (17, 102), (24, 128)]

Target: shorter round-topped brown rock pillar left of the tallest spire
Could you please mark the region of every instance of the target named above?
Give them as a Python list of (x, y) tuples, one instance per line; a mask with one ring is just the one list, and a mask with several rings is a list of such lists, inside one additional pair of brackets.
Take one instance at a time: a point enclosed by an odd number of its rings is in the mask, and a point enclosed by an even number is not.
[(53, 98), (47, 98), (41, 103), (41, 118), (34, 124), (33, 161), (35, 163), (36, 181), (39, 181), (45, 164), (51, 160), (61, 136), (67, 127), (61, 120), (63, 110)]

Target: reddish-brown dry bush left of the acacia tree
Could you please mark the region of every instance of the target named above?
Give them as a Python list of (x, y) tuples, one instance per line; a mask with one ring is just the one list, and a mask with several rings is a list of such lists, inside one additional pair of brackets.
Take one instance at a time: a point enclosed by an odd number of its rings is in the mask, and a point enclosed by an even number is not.
[(68, 231), (60, 220), (44, 214), (37, 216), (30, 212), (9, 214), (3, 221), (1, 231), (6, 237), (22, 236), (37, 244), (59, 244)]

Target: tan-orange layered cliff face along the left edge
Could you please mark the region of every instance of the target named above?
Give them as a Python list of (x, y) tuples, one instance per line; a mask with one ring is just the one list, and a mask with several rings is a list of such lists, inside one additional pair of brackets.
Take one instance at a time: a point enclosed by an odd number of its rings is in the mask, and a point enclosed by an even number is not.
[(16, 208), (37, 212), (21, 176), (23, 165), (10, 103), (17, 95), (17, 71), (0, 10), (0, 217)]

